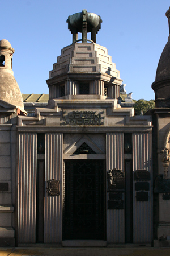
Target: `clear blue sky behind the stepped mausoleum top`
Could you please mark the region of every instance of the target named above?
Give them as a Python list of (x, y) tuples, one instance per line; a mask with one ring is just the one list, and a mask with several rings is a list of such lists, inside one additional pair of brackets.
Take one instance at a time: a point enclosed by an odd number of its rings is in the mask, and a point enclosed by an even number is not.
[(151, 89), (167, 38), (170, 1), (1, 0), (1, 38), (15, 49), (14, 76), (22, 93), (48, 93), (46, 79), (61, 49), (72, 42), (67, 17), (83, 9), (101, 16), (97, 43), (120, 70), (133, 98), (154, 98)]

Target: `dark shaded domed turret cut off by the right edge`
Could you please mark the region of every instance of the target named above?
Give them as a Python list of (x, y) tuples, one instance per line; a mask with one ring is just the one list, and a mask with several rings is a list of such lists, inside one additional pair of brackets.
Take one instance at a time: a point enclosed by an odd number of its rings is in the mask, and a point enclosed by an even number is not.
[[(169, 22), (170, 35), (170, 7), (166, 13)], [(165, 45), (158, 63), (156, 79), (152, 84), (155, 91), (155, 104), (157, 108), (170, 108), (170, 36)]]

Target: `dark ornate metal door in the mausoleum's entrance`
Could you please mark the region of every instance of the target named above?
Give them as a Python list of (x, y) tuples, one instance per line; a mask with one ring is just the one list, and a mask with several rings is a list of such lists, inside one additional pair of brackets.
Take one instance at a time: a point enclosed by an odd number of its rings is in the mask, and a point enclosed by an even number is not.
[(105, 239), (102, 160), (65, 162), (63, 240), (66, 239)]

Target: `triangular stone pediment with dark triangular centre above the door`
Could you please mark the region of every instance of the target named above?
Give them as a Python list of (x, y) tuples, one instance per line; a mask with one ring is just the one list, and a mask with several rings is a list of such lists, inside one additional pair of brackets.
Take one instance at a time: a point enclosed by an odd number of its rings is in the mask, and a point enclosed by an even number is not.
[[(78, 152), (79, 150), (82, 151), (83, 147), (88, 152)], [(88, 135), (84, 134), (78, 141), (71, 143), (64, 151), (64, 154), (105, 154), (105, 152)]]

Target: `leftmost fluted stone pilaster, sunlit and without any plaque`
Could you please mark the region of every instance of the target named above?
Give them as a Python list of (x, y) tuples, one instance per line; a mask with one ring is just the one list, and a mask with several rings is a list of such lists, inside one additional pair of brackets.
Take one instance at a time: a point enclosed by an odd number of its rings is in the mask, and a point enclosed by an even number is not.
[(36, 133), (19, 134), (18, 243), (36, 242)]

